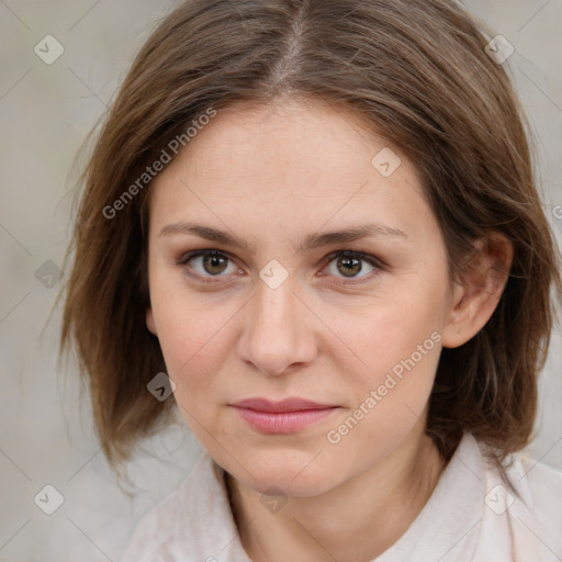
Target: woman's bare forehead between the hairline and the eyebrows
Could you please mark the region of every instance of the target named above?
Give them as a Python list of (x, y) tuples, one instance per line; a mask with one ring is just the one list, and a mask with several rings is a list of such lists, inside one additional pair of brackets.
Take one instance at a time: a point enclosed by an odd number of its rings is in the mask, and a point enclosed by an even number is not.
[[(376, 166), (389, 157), (395, 170), (383, 175)], [(217, 226), (306, 226), (306, 234), (328, 222), (376, 222), (378, 214), (403, 229), (425, 203), (397, 147), (350, 110), (301, 101), (218, 111), (150, 190), (150, 222), (160, 226), (204, 216)]]

